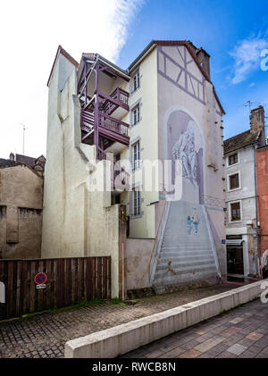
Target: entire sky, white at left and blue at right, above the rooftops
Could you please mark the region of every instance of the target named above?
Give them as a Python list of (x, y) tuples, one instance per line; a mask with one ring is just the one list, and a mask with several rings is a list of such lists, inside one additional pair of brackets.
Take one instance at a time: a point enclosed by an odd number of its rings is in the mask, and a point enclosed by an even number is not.
[(21, 124), (25, 155), (46, 155), (46, 82), (58, 45), (77, 61), (97, 52), (126, 69), (152, 39), (191, 40), (211, 55), (225, 138), (249, 128), (247, 101), (268, 116), (267, 0), (9, 0), (0, 9), (2, 158), (22, 153)]

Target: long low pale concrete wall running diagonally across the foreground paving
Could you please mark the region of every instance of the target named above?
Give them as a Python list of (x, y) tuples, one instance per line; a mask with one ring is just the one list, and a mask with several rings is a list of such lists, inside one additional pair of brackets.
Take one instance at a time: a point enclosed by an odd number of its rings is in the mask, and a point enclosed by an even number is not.
[(65, 358), (114, 358), (258, 297), (263, 280), (98, 331), (65, 344)]

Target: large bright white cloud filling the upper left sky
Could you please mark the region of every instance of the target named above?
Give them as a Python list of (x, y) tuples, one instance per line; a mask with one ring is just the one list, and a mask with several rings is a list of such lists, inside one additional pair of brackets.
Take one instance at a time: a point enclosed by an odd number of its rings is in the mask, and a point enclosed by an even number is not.
[(145, 0), (10, 0), (1, 4), (0, 157), (46, 154), (46, 81), (58, 45), (80, 61), (97, 52), (117, 63)]

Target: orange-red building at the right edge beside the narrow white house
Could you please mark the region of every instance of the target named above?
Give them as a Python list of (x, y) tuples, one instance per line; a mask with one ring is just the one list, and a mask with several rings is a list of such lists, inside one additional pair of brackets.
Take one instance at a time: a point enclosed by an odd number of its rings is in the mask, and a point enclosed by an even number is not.
[(260, 265), (268, 263), (268, 145), (256, 149)]

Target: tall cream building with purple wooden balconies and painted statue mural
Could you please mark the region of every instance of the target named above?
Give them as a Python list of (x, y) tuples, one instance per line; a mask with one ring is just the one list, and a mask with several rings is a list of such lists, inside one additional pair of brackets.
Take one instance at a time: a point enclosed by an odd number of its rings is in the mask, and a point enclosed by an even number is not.
[(113, 297), (226, 278), (224, 111), (209, 60), (191, 42), (154, 40), (123, 70), (59, 46), (42, 257), (111, 255)]

